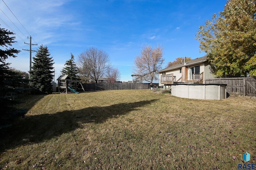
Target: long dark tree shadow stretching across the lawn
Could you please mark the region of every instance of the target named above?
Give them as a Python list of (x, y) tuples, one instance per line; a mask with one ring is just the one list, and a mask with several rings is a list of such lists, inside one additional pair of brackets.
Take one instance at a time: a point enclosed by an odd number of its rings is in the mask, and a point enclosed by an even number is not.
[(85, 123), (104, 123), (107, 119), (125, 115), (156, 100), (144, 100), (111, 106), (88, 107), (22, 117), (11, 127), (0, 129), (0, 152), (29, 143), (40, 143), (63, 133), (68, 133)]

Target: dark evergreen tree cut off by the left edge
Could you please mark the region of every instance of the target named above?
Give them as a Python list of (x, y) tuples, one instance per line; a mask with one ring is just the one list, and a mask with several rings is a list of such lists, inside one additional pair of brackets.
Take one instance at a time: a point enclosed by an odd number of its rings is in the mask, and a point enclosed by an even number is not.
[(3, 106), (2, 111), (4, 112), (11, 102), (6, 96), (14, 91), (10, 86), (16, 87), (20, 85), (20, 82), (17, 81), (18, 73), (10, 69), (10, 63), (6, 63), (8, 57), (17, 57), (16, 54), (20, 52), (9, 47), (12, 46), (12, 43), (16, 42), (14, 41), (15, 37), (11, 37), (13, 34), (6, 29), (0, 28), (0, 46), (2, 47), (0, 49), (0, 103)]

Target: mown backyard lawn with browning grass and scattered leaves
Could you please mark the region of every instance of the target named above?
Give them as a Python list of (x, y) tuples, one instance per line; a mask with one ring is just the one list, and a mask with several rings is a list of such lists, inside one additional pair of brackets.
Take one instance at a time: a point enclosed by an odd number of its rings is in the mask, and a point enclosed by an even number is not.
[[(256, 99), (150, 90), (28, 96), (0, 129), (0, 169), (236, 170), (256, 164)], [(248, 163), (248, 162), (247, 162)]]

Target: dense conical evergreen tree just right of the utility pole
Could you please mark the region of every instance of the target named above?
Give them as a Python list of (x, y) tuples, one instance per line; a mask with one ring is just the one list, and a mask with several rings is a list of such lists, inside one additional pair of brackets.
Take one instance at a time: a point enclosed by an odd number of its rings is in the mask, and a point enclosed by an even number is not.
[(41, 92), (52, 92), (52, 80), (54, 78), (53, 59), (47, 47), (41, 45), (35, 57), (33, 57), (32, 70), (30, 71), (30, 85)]

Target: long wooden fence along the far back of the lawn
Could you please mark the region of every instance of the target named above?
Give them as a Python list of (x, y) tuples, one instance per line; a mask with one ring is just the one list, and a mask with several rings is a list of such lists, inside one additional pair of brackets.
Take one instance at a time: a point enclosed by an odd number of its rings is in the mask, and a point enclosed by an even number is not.
[[(84, 91), (97, 90), (144, 90), (150, 89), (150, 83), (98, 83), (82, 84)], [(158, 87), (158, 83), (153, 83), (153, 88)]]

